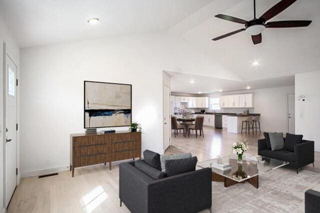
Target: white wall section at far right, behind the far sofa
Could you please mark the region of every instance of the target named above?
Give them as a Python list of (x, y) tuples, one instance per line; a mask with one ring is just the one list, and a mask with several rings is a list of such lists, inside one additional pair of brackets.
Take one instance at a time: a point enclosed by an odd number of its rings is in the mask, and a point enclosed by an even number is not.
[[(314, 150), (320, 152), (320, 71), (295, 75), (295, 133), (314, 141)], [(297, 97), (304, 95), (302, 103)]]

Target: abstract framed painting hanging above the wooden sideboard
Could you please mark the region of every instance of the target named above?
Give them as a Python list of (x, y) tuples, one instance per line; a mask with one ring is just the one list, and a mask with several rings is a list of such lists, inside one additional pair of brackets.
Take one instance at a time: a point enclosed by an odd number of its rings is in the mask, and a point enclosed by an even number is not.
[(84, 81), (84, 128), (131, 125), (131, 84)]

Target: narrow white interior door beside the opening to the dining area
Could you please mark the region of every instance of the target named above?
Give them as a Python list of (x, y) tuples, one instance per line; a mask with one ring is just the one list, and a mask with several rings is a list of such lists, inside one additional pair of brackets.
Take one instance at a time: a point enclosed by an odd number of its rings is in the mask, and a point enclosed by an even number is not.
[(170, 146), (170, 89), (163, 85), (163, 150)]

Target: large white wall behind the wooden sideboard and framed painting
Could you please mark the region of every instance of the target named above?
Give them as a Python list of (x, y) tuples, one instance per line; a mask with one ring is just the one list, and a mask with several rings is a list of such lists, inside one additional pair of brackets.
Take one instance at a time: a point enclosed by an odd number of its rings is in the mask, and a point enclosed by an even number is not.
[(142, 125), (142, 150), (162, 153), (162, 70), (237, 79), (166, 34), (22, 49), (22, 176), (66, 170), (69, 134), (84, 131), (84, 80), (132, 84), (132, 121)]

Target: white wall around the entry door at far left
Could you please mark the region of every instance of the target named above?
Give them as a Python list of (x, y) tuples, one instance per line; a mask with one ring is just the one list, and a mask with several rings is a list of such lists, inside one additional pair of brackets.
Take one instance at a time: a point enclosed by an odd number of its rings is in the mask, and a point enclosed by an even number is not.
[[(9, 31), (3, 19), (0, 15), (0, 212), (4, 211), (3, 205), (3, 193), (4, 193), (4, 119), (3, 119), (3, 42), (6, 43), (6, 49), (13, 57), (16, 63), (19, 63), (19, 48), (15, 45), (14, 39), (10, 35)], [(18, 139), (18, 138), (17, 138)], [(19, 145), (19, 144), (17, 144)], [(19, 156), (19, 153), (18, 153)], [(19, 168), (19, 159), (18, 159)], [(19, 177), (19, 176), (18, 176)], [(19, 178), (18, 178), (19, 181)]]

